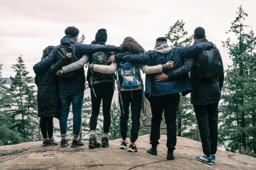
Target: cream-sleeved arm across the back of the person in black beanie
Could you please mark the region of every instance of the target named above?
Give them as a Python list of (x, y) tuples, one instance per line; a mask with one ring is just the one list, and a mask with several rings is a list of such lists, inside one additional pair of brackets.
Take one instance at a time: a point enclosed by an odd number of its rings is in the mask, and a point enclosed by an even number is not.
[(99, 73), (113, 74), (117, 70), (117, 64), (117, 62), (112, 62), (111, 65), (91, 64), (89, 69)]

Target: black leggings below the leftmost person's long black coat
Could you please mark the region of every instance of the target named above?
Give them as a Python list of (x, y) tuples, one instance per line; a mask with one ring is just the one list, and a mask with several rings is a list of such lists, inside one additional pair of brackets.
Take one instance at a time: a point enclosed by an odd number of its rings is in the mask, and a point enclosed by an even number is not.
[(47, 137), (52, 138), (53, 118), (40, 118), (40, 129), (44, 139)]

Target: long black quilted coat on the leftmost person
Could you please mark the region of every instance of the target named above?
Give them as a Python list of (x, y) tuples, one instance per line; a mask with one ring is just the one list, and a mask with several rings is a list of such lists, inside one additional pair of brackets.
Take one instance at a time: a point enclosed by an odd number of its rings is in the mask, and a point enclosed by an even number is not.
[(36, 72), (37, 116), (41, 118), (60, 118), (60, 96), (58, 77), (50, 68)]

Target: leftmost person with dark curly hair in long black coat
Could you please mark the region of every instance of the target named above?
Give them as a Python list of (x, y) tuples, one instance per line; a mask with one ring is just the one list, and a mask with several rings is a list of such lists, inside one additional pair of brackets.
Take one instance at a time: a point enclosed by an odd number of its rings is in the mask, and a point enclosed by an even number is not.
[[(54, 46), (48, 46), (43, 50), (44, 59)], [(71, 53), (67, 54), (68, 62)], [(37, 116), (40, 117), (40, 129), (43, 135), (43, 146), (55, 146), (58, 143), (53, 139), (53, 118), (60, 116), (60, 96), (58, 91), (58, 77), (51, 72), (50, 67), (36, 71), (35, 84), (37, 90)]]

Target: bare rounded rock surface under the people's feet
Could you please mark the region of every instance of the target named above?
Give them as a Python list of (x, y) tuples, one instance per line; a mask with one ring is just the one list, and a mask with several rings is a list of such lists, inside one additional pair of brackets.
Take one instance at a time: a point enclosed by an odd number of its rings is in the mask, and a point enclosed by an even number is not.
[[(158, 155), (146, 153), (150, 148), (149, 135), (140, 136), (136, 142), (137, 153), (119, 149), (120, 139), (109, 141), (110, 147), (89, 149), (42, 147), (42, 142), (28, 142), (0, 147), (0, 169), (175, 169), (175, 170), (254, 170), (256, 158), (218, 150), (216, 163), (208, 165), (195, 159), (202, 154), (201, 143), (177, 137), (175, 159), (166, 160), (166, 135), (161, 135)], [(71, 142), (70, 142), (71, 143)]]

